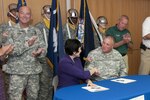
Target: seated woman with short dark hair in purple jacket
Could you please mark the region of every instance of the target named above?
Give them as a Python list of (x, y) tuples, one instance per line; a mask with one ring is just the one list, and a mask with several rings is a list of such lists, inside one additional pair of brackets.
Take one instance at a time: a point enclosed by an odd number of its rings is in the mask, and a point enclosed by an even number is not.
[(66, 86), (80, 84), (83, 80), (88, 86), (94, 86), (89, 80), (90, 76), (97, 73), (96, 68), (84, 71), (80, 60), (81, 43), (77, 39), (68, 39), (65, 43), (66, 55), (58, 65), (58, 89)]

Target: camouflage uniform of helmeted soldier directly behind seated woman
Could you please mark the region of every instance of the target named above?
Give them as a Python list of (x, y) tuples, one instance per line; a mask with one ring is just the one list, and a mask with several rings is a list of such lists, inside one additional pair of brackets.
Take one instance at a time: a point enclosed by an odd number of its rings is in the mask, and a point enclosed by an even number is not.
[[(68, 24), (68, 23), (67, 23)], [(67, 30), (67, 24), (65, 24), (63, 26), (63, 34), (64, 34), (64, 42), (69, 39), (69, 33), (68, 33), (68, 30)], [(72, 29), (69, 24), (68, 24), (68, 27), (69, 27), (69, 31), (70, 31), (70, 36), (72, 39), (75, 39), (76, 38), (76, 34), (77, 34), (77, 27), (75, 29)]]

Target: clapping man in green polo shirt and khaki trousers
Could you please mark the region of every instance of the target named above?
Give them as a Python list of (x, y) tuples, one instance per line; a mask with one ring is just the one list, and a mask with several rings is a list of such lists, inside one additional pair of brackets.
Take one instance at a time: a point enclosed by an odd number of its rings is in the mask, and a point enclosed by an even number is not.
[(114, 37), (114, 48), (121, 53), (128, 66), (128, 48), (132, 48), (131, 35), (127, 29), (129, 18), (122, 15), (115, 26), (108, 28), (106, 35)]

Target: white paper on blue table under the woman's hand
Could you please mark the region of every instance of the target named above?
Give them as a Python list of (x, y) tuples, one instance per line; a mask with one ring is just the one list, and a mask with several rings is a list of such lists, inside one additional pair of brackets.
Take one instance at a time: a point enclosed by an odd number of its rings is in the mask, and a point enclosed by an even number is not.
[(94, 88), (92, 88), (90, 86), (84, 86), (84, 87), (82, 87), (82, 89), (88, 90), (90, 92), (99, 92), (99, 91), (109, 90), (109, 88), (106, 88), (106, 87), (103, 87), (103, 86), (99, 86), (99, 85), (97, 85)]

